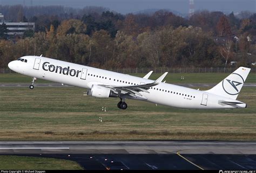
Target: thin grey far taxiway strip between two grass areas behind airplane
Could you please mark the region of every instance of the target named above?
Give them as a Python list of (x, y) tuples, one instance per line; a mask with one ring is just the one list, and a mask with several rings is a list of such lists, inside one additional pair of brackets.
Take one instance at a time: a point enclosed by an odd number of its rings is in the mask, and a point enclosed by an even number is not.
[[(0, 87), (29, 87), (31, 84), (4, 84), (0, 83)], [(214, 87), (217, 84), (173, 84), (173, 85), (179, 85), (184, 87)], [(62, 85), (62, 84), (35, 84), (35, 87), (72, 87), (69, 85)], [(243, 87), (256, 87), (256, 84), (244, 84)]]

